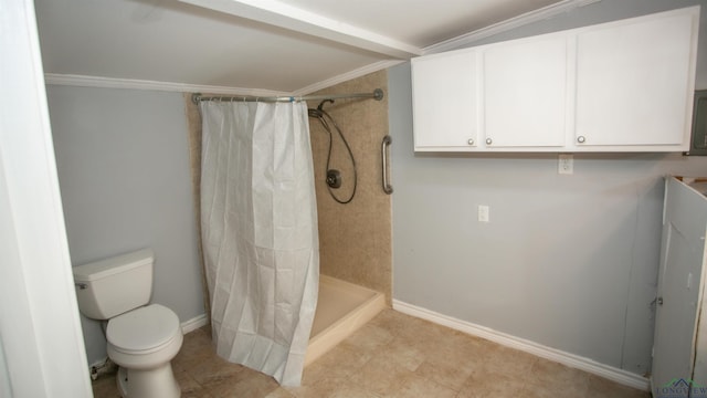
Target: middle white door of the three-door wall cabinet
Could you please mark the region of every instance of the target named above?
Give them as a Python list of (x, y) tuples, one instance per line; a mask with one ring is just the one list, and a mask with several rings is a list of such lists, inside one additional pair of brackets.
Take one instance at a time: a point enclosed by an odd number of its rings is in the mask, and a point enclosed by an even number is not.
[(563, 146), (566, 36), (556, 34), (492, 45), (483, 56), (486, 146)]

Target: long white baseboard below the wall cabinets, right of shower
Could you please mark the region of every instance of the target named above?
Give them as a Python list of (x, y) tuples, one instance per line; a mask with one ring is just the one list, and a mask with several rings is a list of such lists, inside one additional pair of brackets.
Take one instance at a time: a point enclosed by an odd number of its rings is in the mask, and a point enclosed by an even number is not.
[(624, 386), (637, 388), (644, 391), (647, 391), (650, 387), (648, 379), (641, 375), (615, 368), (613, 366), (600, 364), (593, 359), (589, 359), (579, 355), (570, 354), (556, 348), (550, 348), (541, 344), (497, 332), (485, 326), (442, 315), (434, 311), (422, 308), (398, 300), (393, 300), (393, 310), (433, 322), (439, 325), (451, 327), (453, 329), (464, 332), (473, 336), (482, 337), (510, 348), (523, 350), (541, 358), (555, 360), (562, 365), (567, 365), (576, 369), (601, 376)]

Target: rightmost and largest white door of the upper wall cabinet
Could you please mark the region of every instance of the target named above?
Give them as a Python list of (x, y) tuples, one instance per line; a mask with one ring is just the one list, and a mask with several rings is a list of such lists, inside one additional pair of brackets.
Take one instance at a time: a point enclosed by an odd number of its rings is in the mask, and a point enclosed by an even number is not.
[(694, 24), (692, 13), (671, 13), (578, 35), (578, 145), (686, 149)]

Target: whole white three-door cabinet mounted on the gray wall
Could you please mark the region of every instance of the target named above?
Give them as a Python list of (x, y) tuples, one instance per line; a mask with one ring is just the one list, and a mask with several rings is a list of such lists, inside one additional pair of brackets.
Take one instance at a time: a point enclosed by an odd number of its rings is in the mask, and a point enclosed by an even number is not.
[(683, 151), (699, 7), (412, 60), (415, 150)]

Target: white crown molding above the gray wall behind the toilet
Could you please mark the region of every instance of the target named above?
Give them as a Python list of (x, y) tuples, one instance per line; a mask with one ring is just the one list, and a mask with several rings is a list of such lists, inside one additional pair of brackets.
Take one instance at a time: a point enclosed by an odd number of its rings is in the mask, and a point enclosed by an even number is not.
[(45, 80), (45, 83), (50, 85), (68, 85), (68, 86), (80, 86), (80, 87), (133, 88), (133, 90), (178, 92), (178, 93), (209, 93), (209, 94), (229, 94), (229, 95), (243, 95), (243, 96), (291, 95), (289, 93), (286, 93), (286, 92), (272, 91), (272, 90), (224, 87), (224, 86), (212, 86), (212, 85), (156, 82), (156, 81), (133, 80), (133, 78), (113, 78), (113, 77), (85, 76), (85, 75), (65, 75), (65, 74), (55, 74), (55, 73), (44, 74), (44, 80)]

